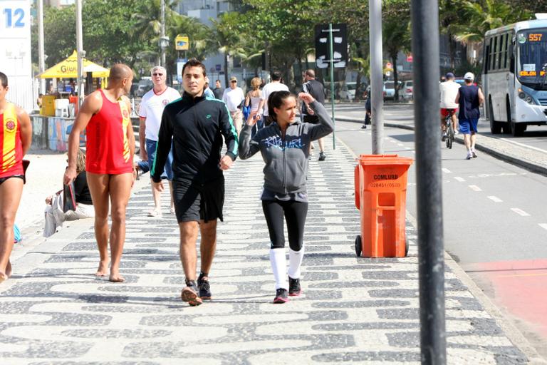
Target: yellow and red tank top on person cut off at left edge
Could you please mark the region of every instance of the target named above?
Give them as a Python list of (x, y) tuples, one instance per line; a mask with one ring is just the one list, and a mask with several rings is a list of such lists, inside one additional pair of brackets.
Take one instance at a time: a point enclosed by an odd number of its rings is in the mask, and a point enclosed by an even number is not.
[(17, 120), (14, 104), (0, 114), (0, 178), (23, 175), (23, 147), (21, 145), (21, 125)]

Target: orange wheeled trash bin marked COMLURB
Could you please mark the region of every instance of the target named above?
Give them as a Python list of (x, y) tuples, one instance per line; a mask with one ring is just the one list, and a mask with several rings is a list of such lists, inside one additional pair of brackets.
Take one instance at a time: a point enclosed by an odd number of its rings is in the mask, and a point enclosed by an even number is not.
[(412, 158), (360, 155), (355, 166), (355, 206), (361, 234), (355, 253), (363, 257), (405, 257), (407, 172)]

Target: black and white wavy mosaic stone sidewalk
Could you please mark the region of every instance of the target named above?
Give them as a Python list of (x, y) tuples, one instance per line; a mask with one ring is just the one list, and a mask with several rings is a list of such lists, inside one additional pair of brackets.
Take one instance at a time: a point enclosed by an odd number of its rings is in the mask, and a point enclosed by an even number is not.
[[(343, 146), (327, 152), (323, 163), (310, 163), (301, 297), (271, 304), (263, 162), (237, 160), (226, 173), (212, 302), (180, 301), (178, 227), (167, 210), (160, 219), (145, 217), (147, 186), (128, 209), (125, 283), (93, 277), (92, 222), (38, 246), (45, 259), (33, 267), (21, 266), (31, 262), (25, 257), (15, 263), (26, 274), (0, 285), (1, 364), (419, 364), (415, 228), (407, 224), (408, 257), (355, 257), (353, 158)], [(448, 363), (525, 363), (448, 269), (446, 279)]]

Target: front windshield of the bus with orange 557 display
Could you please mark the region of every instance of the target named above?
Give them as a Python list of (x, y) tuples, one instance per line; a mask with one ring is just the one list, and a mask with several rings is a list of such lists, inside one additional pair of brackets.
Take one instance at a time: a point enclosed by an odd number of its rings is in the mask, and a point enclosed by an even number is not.
[(516, 41), (519, 44), (519, 81), (534, 88), (546, 88), (547, 29), (519, 31)]

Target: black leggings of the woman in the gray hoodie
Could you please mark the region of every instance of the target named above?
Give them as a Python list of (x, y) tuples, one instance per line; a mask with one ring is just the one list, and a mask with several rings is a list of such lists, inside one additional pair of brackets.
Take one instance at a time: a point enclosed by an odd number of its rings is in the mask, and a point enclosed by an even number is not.
[(270, 232), (271, 248), (285, 247), (284, 216), (287, 220), (288, 245), (291, 250), (300, 251), (304, 240), (308, 203), (294, 200), (262, 200), (262, 209)]

